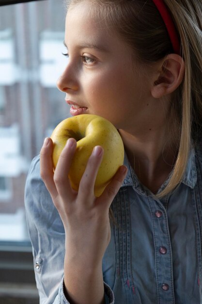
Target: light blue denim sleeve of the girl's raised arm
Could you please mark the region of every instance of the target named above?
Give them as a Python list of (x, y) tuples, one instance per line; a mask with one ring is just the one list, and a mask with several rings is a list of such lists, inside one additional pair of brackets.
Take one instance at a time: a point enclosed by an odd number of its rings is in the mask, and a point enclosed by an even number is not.
[[(36, 156), (26, 180), (25, 210), (40, 304), (70, 304), (63, 283), (64, 227), (39, 172)], [(114, 304), (111, 288), (106, 283), (104, 287), (106, 304)]]

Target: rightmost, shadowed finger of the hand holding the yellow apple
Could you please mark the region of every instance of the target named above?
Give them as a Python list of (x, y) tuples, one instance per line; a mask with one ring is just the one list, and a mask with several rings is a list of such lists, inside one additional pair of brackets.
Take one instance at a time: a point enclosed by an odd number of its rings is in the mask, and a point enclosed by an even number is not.
[(118, 193), (120, 187), (122, 186), (126, 174), (127, 167), (121, 166), (112, 178), (109, 185), (105, 188), (103, 194), (98, 198), (98, 201), (102, 200), (102, 202), (109, 203), (110, 205), (114, 197)]

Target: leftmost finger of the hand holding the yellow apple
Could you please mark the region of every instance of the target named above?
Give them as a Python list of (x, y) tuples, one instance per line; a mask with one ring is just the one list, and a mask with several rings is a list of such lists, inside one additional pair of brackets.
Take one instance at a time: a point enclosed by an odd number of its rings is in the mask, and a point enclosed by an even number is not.
[(40, 152), (40, 175), (47, 190), (52, 197), (57, 195), (57, 189), (53, 181), (53, 163), (52, 163), (53, 142), (51, 138), (45, 138)]

